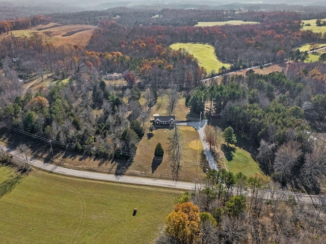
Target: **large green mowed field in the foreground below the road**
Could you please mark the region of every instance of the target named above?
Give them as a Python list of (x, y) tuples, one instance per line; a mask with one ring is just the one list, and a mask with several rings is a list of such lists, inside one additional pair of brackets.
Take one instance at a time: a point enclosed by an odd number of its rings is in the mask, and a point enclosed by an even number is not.
[(0, 198), (0, 242), (154, 243), (180, 194), (34, 170)]

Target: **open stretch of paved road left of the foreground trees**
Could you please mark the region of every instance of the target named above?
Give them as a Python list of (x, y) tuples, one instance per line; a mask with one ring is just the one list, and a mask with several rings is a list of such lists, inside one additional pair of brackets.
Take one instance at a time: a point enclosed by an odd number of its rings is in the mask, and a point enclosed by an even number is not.
[[(0, 147), (2, 147), (5, 151), (7, 151), (7, 153), (12, 155), (15, 159), (24, 162), (22, 155), (18, 153), (18, 151), (12, 150), (3, 145), (0, 145)], [(30, 165), (40, 168), (42, 170), (46, 170), (52, 173), (79, 177), (79, 178), (113, 181), (113, 182), (119, 182), (125, 184), (137, 184), (137, 185), (154, 186), (154, 187), (167, 187), (167, 188), (182, 189), (187, 191), (191, 191), (195, 189), (195, 183), (190, 183), (190, 182), (184, 182), (184, 181), (174, 182), (173, 180), (135, 177), (135, 176), (126, 176), (126, 175), (116, 176), (113, 174), (105, 174), (105, 173), (64, 168), (57, 165), (44, 163), (42, 161), (35, 160), (30, 157), (28, 157), (28, 160)]]

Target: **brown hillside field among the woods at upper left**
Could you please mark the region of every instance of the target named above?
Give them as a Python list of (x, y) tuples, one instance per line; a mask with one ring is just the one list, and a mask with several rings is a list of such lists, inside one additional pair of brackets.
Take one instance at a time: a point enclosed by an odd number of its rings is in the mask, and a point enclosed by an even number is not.
[[(69, 24), (62, 26), (57, 25), (57, 23), (39, 25), (32, 29), (21, 29), (17, 31), (12, 31), (10, 32), (10, 34), (3, 34), (0, 37), (7, 37), (8, 35), (12, 35), (13, 37), (17, 38), (39, 37), (42, 38), (44, 43), (46, 42), (55, 46), (72, 46), (75, 44), (79, 46), (86, 46), (92, 36), (93, 29), (97, 28), (97, 26), (86, 24)], [(38, 31), (38, 29), (40, 30)], [(69, 35), (69, 33), (73, 32), (75, 33), (70, 36), (63, 37), (63, 35)]]

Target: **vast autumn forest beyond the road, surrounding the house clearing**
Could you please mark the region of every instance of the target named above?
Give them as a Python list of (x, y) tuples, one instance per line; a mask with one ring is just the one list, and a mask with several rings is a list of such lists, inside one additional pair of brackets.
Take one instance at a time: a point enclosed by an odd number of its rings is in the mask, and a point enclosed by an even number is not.
[[(161, 17), (152, 18), (155, 14)], [(226, 19), (260, 23), (193, 26), (197, 21)], [(301, 19), (301, 14), (277, 11), (115, 8), (2, 21), (2, 125), (52, 140), (58, 150), (132, 158), (158, 94), (178, 93), (192, 112), (205, 111), (207, 118), (222, 114), (238, 137), (254, 143), (259, 152), (255, 158), (265, 174), (283, 186), (319, 193), (326, 172), (325, 149), (312, 133), (326, 127), (325, 66), (305, 64), (305, 55), (293, 50), (324, 43), (325, 37), (302, 31)], [(55, 46), (38, 37), (10, 35), (15, 29), (51, 21), (88, 21), (98, 28), (87, 46)], [(285, 72), (259, 75), (249, 70), (245, 76), (223, 76), (221, 83), (207, 84), (204, 79), (214, 72), (207, 74), (184, 49), (169, 48), (176, 42), (214, 46), (218, 57), (231, 64), (230, 70), (215, 71), (219, 74), (290, 62)], [(105, 82), (104, 75), (113, 72), (123, 74), (126, 87)], [(33, 94), (19, 81), (45, 75), (58, 82)]]

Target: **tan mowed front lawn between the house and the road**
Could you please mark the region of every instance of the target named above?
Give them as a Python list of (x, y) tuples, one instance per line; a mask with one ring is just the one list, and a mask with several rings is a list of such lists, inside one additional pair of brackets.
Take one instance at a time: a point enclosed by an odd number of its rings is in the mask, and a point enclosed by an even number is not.
[[(178, 127), (181, 134), (181, 170), (180, 180), (193, 181), (196, 178), (197, 153), (203, 149), (202, 143), (198, 141), (198, 132), (193, 127)], [(153, 131), (150, 139), (145, 135), (138, 144), (136, 156), (128, 168), (128, 173), (138, 173), (148, 177), (172, 178), (171, 161), (169, 158), (169, 136), (174, 129), (157, 129)], [(161, 143), (164, 149), (162, 160), (154, 159), (154, 151), (157, 143)], [(198, 164), (198, 178), (203, 178), (204, 172)]]

